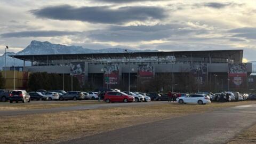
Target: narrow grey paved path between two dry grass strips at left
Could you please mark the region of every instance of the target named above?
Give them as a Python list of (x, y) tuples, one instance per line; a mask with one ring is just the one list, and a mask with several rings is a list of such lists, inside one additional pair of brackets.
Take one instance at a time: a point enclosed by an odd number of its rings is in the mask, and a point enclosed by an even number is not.
[[(3, 111), (0, 111), (0, 116), (56, 113), (60, 111), (87, 110), (87, 109), (99, 109), (99, 108), (111, 108), (111, 107), (143, 106), (143, 105), (155, 105), (159, 103), (168, 103), (168, 102), (167, 101), (151, 101), (151, 102), (131, 102), (131, 103), (99, 103), (99, 104), (92, 103), (91, 105), (86, 104), (86, 105), (79, 105), (79, 106), (67, 106), (67, 107), (57, 107), (57, 108), (48, 108), (48, 109), (3, 110)], [(15, 105), (19, 103), (13, 103), (13, 104)], [(25, 103), (25, 104), (27, 105), (28, 103)]]

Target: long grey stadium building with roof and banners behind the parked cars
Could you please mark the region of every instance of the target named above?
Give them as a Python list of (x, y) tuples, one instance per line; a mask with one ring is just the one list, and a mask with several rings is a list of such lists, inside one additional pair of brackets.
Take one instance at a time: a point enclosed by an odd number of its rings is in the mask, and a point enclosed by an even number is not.
[[(23, 67), (19, 67), (22, 71), (71, 74), (82, 84), (111, 89), (120, 88), (121, 85), (127, 88), (130, 79), (131, 90), (137, 90), (138, 86), (150, 82), (150, 79), (159, 75), (166, 75), (164, 80), (170, 80), (169, 86), (171, 85), (174, 91), (186, 89), (184, 83), (191, 84), (191, 79), (196, 85), (195, 89), (198, 90), (247, 89), (247, 76), (252, 72), (251, 63), (242, 63), (243, 50), (11, 55), (10, 57), (24, 61)], [(25, 61), (30, 61), (31, 66), (26, 66)], [(4, 68), (4, 70), (12, 69), (13, 67)], [(182, 81), (185, 81), (182, 84), (181, 77)]]

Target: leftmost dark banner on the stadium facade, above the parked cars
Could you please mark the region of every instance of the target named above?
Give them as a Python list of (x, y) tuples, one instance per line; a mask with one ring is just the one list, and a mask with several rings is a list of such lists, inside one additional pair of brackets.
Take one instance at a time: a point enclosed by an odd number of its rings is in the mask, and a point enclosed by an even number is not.
[(85, 63), (84, 62), (71, 62), (70, 75), (78, 79), (80, 87), (84, 85)]

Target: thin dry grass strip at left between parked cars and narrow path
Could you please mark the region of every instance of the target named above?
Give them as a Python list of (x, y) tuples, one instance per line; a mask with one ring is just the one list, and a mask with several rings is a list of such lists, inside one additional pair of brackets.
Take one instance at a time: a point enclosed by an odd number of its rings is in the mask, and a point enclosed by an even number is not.
[(0, 110), (21, 110), (21, 109), (46, 109), (46, 108), (57, 108), (57, 107), (69, 107), (69, 106), (81, 106), (81, 105), (94, 105), (99, 103), (105, 103), (103, 101), (51, 101), (43, 103), (0, 103)]

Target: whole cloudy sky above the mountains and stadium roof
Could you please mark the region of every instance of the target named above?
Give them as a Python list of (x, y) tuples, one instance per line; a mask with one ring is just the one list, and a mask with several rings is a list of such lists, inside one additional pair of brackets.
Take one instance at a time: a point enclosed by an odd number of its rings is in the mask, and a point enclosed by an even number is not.
[(243, 49), (256, 60), (256, 1), (1, 0), (0, 53), (32, 40), (89, 49)]

